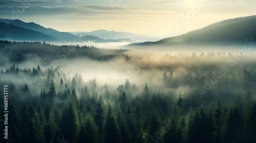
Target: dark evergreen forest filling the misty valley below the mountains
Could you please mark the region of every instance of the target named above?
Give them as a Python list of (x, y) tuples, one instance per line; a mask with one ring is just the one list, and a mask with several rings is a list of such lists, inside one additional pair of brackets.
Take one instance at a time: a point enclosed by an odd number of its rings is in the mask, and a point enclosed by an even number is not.
[[(256, 141), (255, 56), (223, 52), (147, 55), (137, 73), (132, 71), (137, 76), (120, 78), (122, 83), (113, 86), (111, 80), (102, 82), (96, 76), (86, 80), (93, 68), (84, 70), (86, 74), (70, 71), (86, 66), (77, 64), (78, 58), (90, 59), (83, 59), (84, 64), (107, 65), (102, 67), (105, 71), (110, 66), (114, 72), (121, 66), (113, 68), (116, 61), (125, 63), (123, 69), (143, 56), (129, 55), (127, 50), (66, 46), (76, 50), (59, 58), (54, 55), (61, 46), (1, 42), (1, 53), (9, 57), (2, 59), (0, 73), (1, 86), (8, 85), (9, 142)], [(31, 59), (39, 59), (38, 64), (31, 64)], [(61, 62), (52, 64), (56, 59)], [(62, 64), (71, 61), (79, 68), (67, 69)], [(228, 70), (220, 76), (223, 64)], [(142, 78), (145, 75), (147, 79)], [(214, 77), (217, 82), (212, 84)], [(206, 81), (212, 86), (209, 90), (204, 87)], [(0, 109), (3, 113), (4, 106)]]

